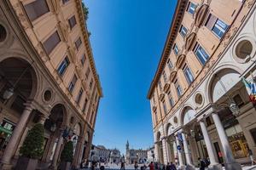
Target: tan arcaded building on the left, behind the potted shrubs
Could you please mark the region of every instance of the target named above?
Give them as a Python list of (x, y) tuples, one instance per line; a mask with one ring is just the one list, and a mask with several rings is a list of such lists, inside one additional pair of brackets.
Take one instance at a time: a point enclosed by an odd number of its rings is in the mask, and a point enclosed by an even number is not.
[(56, 168), (68, 133), (73, 167), (87, 159), (102, 88), (80, 0), (0, 2), (0, 158), (10, 169), (44, 124), (42, 167)]

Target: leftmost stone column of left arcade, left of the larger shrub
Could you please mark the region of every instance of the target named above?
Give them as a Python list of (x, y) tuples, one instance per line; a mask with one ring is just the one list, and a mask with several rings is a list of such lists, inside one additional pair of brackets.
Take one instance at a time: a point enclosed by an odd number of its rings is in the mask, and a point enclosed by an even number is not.
[(12, 156), (15, 152), (14, 149), (16, 145), (19, 143), (20, 136), (24, 132), (24, 129), (26, 128), (26, 122), (28, 121), (28, 118), (32, 112), (31, 105), (27, 105), (27, 104), (25, 105), (26, 105), (26, 108), (24, 109), (22, 115), (20, 116), (20, 121), (17, 123), (14, 133), (12, 134), (9, 140), (9, 143), (7, 144), (4, 150), (3, 157), (1, 160), (2, 168), (0, 169), (9, 169), (9, 167), (11, 167), (10, 163), (11, 163)]

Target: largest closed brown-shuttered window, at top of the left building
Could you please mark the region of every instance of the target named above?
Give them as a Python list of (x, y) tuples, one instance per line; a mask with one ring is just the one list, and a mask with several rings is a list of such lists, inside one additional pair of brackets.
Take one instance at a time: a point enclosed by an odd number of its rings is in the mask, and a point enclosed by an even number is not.
[(33, 1), (32, 3), (26, 4), (24, 8), (29, 20), (31, 21), (36, 20), (43, 14), (49, 12), (49, 7), (46, 3), (46, 0)]

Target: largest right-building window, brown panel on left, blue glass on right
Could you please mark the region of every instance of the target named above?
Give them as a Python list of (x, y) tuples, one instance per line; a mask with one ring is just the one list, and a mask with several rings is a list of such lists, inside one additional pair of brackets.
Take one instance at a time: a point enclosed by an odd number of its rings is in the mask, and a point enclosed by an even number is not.
[(211, 30), (218, 38), (222, 38), (224, 33), (228, 30), (228, 25), (224, 21), (219, 20), (213, 14), (210, 14), (207, 19), (207, 28)]

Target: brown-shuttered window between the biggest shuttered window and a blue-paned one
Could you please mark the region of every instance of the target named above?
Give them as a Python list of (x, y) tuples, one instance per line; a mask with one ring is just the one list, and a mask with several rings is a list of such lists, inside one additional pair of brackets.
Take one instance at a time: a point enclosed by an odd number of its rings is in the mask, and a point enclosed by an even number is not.
[(44, 43), (44, 49), (46, 54), (50, 54), (52, 50), (61, 42), (61, 38), (57, 31), (55, 31)]

